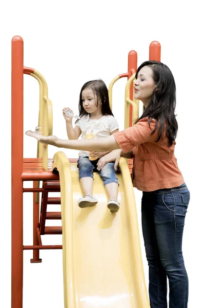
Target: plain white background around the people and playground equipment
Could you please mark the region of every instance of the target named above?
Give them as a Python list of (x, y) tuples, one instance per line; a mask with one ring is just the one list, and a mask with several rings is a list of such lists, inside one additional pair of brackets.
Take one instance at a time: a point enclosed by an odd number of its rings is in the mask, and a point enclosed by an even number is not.
[[(127, 72), (130, 50), (138, 65), (148, 60), (149, 44), (161, 44), (161, 62), (173, 72), (177, 87), (179, 125), (175, 155), (191, 192), (183, 236), (183, 255), (189, 275), (189, 308), (204, 302), (204, 14), (202, 2), (193, 1), (7, 1), (0, 8), (1, 102), (1, 289), (0, 306), (10, 307), (11, 280), (11, 39), (24, 40), (24, 65), (42, 73), (53, 103), (53, 134), (66, 138), (61, 110), (78, 110), (81, 86), (103, 79), (107, 86)], [(114, 86), (113, 113), (124, 128), (124, 87)], [(38, 84), (24, 77), (24, 131), (34, 129), (38, 118)], [(49, 157), (59, 149), (49, 147)], [(77, 151), (66, 150), (68, 157)], [(36, 156), (36, 142), (25, 137), (24, 157)], [(141, 192), (135, 191), (140, 225)], [(32, 196), (24, 196), (24, 244), (32, 244)], [(60, 244), (60, 236), (43, 238)], [(141, 238), (146, 282), (148, 265)], [(41, 264), (31, 264), (24, 252), (24, 308), (63, 307), (61, 251), (42, 251)], [(39, 287), (39, 288), (38, 288)], [(36, 299), (36, 295), (38, 299)], [(35, 296), (35, 298), (34, 298)]]

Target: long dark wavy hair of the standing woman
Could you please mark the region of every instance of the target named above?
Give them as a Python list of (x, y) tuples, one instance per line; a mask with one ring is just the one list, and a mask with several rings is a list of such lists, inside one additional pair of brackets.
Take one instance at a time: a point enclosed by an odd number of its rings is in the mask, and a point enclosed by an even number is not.
[(157, 61), (146, 61), (138, 67), (135, 75), (136, 79), (140, 69), (144, 66), (149, 66), (152, 69), (152, 77), (156, 84), (156, 88), (152, 93), (150, 103), (135, 124), (139, 120), (148, 117), (148, 123), (150, 125), (151, 120), (154, 119), (156, 127), (151, 134), (158, 128), (158, 138), (156, 142), (162, 138), (164, 127), (167, 125), (166, 136), (171, 146), (176, 139), (178, 130), (178, 124), (174, 114), (176, 107), (176, 85), (174, 77), (167, 65)]

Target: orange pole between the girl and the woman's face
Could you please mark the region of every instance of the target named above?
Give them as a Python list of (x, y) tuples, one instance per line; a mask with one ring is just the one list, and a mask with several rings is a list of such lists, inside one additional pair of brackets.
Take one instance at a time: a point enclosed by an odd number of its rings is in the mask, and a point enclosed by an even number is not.
[[(133, 70), (137, 70), (137, 52), (131, 50), (128, 54), (128, 79), (132, 76)], [(130, 99), (133, 100), (133, 82), (130, 86)], [(132, 126), (132, 105), (130, 105), (129, 126)]]

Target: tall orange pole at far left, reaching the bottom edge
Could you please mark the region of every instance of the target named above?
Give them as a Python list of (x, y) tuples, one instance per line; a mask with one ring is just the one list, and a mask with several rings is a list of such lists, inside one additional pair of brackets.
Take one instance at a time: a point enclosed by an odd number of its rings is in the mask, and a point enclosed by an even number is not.
[(24, 42), (12, 38), (11, 70), (11, 308), (23, 307), (23, 70)]

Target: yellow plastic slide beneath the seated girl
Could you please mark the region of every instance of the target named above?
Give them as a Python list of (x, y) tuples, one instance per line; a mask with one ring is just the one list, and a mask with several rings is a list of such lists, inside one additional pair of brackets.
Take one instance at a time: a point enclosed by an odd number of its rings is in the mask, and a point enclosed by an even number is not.
[(94, 173), (96, 206), (79, 208), (76, 164), (53, 158), (60, 177), (65, 308), (149, 308), (130, 172), (120, 159), (118, 213), (110, 213), (103, 181)]

